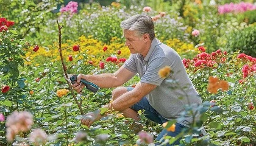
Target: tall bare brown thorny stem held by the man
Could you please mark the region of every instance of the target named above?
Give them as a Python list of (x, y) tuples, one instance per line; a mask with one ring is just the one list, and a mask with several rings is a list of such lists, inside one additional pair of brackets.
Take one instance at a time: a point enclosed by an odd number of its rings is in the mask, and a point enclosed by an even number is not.
[[(64, 61), (63, 61), (63, 56), (62, 56), (62, 26), (59, 25), (59, 21), (57, 20), (57, 24), (58, 24), (58, 29), (59, 29), (59, 52), (60, 52), (60, 60), (62, 60), (62, 67), (63, 67), (63, 71), (64, 71), (64, 74), (65, 74), (65, 77), (68, 78), (68, 74), (66, 73), (66, 66), (64, 64)], [(68, 81), (67, 81), (68, 82)], [(84, 111), (82, 110), (82, 107), (81, 107), (81, 104), (78, 102), (75, 94), (74, 94), (74, 91), (73, 89), (71, 88), (71, 85), (70, 83), (68, 82), (68, 86), (69, 86), (69, 89), (72, 93), (72, 96), (73, 96), (73, 99), (75, 100), (79, 110), (80, 110), (80, 113), (83, 115), (84, 114)]]

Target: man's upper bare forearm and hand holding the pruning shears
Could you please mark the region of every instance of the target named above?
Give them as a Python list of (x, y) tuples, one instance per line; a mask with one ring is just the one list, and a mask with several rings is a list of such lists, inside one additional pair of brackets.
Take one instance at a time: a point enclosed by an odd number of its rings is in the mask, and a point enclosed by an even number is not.
[(116, 86), (121, 86), (124, 83), (126, 83), (130, 78), (132, 78), (136, 73), (131, 72), (128, 69), (121, 66), (121, 68), (118, 69), (113, 74), (98, 74), (98, 75), (84, 75), (79, 74), (77, 75), (77, 83), (75, 83), (73, 86), (73, 89), (77, 92), (81, 92), (82, 89), (85, 87), (84, 84), (80, 85), (80, 79), (84, 78), (85, 80), (88, 80), (100, 88), (113, 88)]

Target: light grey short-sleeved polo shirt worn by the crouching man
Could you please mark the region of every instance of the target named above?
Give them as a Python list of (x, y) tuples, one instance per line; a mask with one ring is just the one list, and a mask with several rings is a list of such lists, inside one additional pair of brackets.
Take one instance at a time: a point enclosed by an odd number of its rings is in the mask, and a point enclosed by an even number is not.
[[(172, 73), (167, 78), (161, 78), (158, 71), (165, 66), (170, 66)], [(124, 68), (137, 72), (141, 83), (157, 85), (157, 88), (146, 97), (149, 104), (165, 119), (173, 120), (180, 117), (185, 110), (184, 105), (202, 104), (180, 56), (157, 38), (152, 41), (146, 57), (143, 58), (141, 54), (131, 54), (124, 63)], [(191, 117), (186, 117), (179, 123), (188, 127), (191, 121)]]

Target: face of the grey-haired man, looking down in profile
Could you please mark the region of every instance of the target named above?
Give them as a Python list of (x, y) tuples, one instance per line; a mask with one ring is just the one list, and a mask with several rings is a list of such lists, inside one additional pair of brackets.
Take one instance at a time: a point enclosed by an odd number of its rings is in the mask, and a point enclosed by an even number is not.
[(124, 30), (126, 38), (126, 46), (129, 47), (131, 54), (143, 54), (146, 44), (143, 41), (143, 36), (138, 36), (135, 30)]

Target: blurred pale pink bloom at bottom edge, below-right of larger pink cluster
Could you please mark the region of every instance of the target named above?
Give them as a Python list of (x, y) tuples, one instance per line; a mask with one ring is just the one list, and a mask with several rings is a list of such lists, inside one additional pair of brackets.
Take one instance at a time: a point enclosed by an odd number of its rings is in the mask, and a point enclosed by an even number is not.
[(48, 135), (42, 129), (34, 129), (29, 134), (29, 141), (35, 145), (43, 145)]

